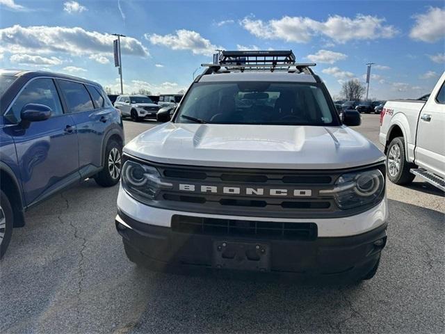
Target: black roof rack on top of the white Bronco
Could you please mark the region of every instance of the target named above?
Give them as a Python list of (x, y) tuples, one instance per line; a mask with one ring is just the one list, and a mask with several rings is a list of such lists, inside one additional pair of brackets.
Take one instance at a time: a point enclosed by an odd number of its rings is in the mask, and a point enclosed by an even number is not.
[(231, 70), (252, 71), (270, 71), (287, 70), (288, 72), (298, 72), (315, 75), (311, 66), (315, 63), (296, 63), (295, 55), (292, 50), (289, 51), (223, 51), (219, 57), (218, 64), (201, 64), (203, 67), (209, 67), (202, 73), (213, 74)]

